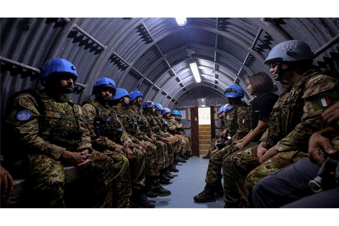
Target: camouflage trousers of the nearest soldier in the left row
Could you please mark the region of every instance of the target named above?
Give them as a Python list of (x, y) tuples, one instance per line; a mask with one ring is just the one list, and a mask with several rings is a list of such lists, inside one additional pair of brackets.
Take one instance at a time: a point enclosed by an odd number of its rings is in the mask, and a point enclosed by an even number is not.
[[(30, 199), (39, 208), (65, 207), (64, 164), (45, 155), (28, 155), (26, 181), (29, 186)], [(91, 181), (95, 189), (95, 207), (110, 208), (113, 206), (115, 168), (113, 159), (93, 150), (91, 162), (80, 169), (79, 175)], [(86, 189), (86, 188), (83, 188)], [(79, 206), (80, 207), (80, 206)]]

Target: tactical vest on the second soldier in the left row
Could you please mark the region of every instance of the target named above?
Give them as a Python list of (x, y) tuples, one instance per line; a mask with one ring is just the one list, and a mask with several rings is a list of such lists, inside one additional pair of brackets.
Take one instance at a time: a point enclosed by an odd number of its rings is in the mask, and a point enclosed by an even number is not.
[(93, 119), (93, 126), (96, 135), (107, 137), (114, 142), (120, 142), (123, 129), (121, 124), (117, 121), (118, 116), (112, 111), (105, 109), (96, 100), (84, 101), (84, 104), (92, 104), (95, 107), (96, 117)]

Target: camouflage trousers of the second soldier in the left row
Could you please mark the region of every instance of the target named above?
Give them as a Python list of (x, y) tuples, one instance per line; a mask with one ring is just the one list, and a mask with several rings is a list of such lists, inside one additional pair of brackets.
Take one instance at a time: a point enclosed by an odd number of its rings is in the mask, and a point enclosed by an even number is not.
[[(116, 180), (116, 184), (117, 184), (117, 190), (115, 191), (117, 207), (118, 208), (129, 207), (129, 198), (131, 197), (131, 194), (132, 194), (131, 174), (134, 174), (134, 172), (130, 171), (129, 161), (126, 158), (126, 156), (118, 152), (111, 151), (111, 150), (103, 150), (102, 152), (105, 155), (112, 158), (114, 162), (114, 172), (115, 172), (114, 179)], [(144, 169), (140, 169), (140, 170), (143, 171)], [(138, 173), (139, 172), (136, 172), (136, 174)], [(140, 180), (140, 178), (138, 179)]]

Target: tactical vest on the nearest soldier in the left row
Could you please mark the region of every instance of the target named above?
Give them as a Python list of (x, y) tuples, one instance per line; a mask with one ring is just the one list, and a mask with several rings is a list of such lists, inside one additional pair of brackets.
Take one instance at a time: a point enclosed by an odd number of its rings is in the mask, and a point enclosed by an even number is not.
[(64, 96), (65, 101), (56, 101), (35, 89), (20, 93), (31, 94), (39, 102), (38, 136), (51, 144), (75, 151), (83, 130), (78, 123), (81, 114), (76, 112), (73, 101), (67, 96)]

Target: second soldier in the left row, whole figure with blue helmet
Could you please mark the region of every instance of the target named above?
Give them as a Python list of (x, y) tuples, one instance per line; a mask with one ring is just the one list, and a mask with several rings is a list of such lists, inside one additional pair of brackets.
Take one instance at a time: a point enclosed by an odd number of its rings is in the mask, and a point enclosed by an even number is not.
[(129, 163), (128, 173), (116, 175), (118, 207), (124, 207), (130, 199), (134, 207), (154, 208), (154, 203), (149, 202), (142, 193), (145, 188), (144, 154), (134, 149), (117, 114), (107, 104), (115, 93), (115, 82), (109, 78), (100, 78), (93, 86), (95, 99), (82, 103), (83, 120), (96, 150), (111, 157), (116, 166)]

